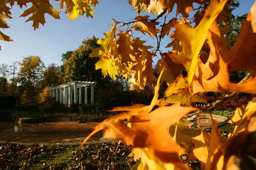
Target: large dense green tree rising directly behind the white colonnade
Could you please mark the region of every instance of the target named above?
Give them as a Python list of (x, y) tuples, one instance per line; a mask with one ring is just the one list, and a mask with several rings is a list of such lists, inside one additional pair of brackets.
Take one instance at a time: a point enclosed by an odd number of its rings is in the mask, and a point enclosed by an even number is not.
[(98, 87), (107, 87), (111, 84), (111, 78), (103, 78), (100, 70), (95, 70), (94, 64), (99, 60), (97, 58), (90, 58), (89, 54), (93, 49), (100, 47), (96, 43), (95, 36), (88, 38), (82, 42), (82, 45), (75, 51), (67, 51), (62, 54), (63, 68), (64, 68), (64, 82), (70, 81), (88, 81), (97, 82)]

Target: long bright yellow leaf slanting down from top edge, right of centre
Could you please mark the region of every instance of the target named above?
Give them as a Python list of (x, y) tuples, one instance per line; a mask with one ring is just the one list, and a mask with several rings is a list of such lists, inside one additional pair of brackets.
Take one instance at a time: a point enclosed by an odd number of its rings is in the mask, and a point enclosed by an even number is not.
[(198, 62), (198, 55), (206, 40), (208, 29), (222, 11), (227, 0), (214, 0), (206, 11), (204, 17), (197, 27), (192, 28), (186, 25), (176, 24), (176, 37), (181, 41), (182, 52), (178, 55), (171, 55), (175, 63), (183, 64), (188, 72), (188, 83), (190, 84), (194, 77), (194, 68)]

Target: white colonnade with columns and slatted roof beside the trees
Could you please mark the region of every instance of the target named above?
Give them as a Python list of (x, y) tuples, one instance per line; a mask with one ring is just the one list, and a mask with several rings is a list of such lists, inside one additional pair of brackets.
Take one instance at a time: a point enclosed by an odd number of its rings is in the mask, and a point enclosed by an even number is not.
[[(91, 86), (91, 104), (94, 104), (94, 84), (96, 84), (96, 82), (72, 81), (54, 86), (49, 88), (50, 98), (56, 98), (56, 102), (60, 102), (60, 104), (72, 104), (74, 97), (75, 104), (82, 104), (82, 90), (84, 90), (84, 104), (88, 104), (87, 88)], [(77, 91), (79, 94), (77, 94)]]

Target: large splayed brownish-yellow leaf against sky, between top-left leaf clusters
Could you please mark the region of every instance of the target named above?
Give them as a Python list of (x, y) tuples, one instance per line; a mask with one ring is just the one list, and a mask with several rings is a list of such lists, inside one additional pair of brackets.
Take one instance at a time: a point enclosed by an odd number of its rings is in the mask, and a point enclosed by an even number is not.
[(27, 10), (25, 10), (21, 16), (26, 17), (32, 14), (32, 16), (30, 16), (28, 20), (26, 20), (26, 22), (33, 21), (32, 26), (34, 27), (34, 29), (37, 29), (39, 27), (39, 23), (44, 25), (45, 13), (49, 14), (55, 19), (60, 19), (60, 16), (59, 16), (60, 13), (52, 7), (52, 5), (49, 3), (48, 0), (45, 0), (45, 1), (36, 0), (36, 5), (32, 4), (32, 6)]

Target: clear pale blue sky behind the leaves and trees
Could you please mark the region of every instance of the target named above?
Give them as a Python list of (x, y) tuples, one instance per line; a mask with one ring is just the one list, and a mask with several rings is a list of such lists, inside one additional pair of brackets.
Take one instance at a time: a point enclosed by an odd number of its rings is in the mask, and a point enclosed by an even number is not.
[[(128, 0), (124, 0), (124, 2), (122, 0), (98, 1), (99, 5), (94, 9), (94, 18), (80, 16), (78, 20), (70, 21), (63, 10), (60, 14), (60, 20), (55, 20), (46, 14), (45, 25), (39, 25), (39, 29), (35, 31), (31, 21), (24, 23), (28, 18), (19, 18), (26, 8), (21, 10), (19, 6), (14, 6), (12, 8), (13, 19), (6, 19), (10, 28), (1, 30), (14, 41), (0, 41), (2, 48), (0, 64), (11, 65), (13, 61), (21, 62), (23, 57), (34, 55), (39, 56), (46, 66), (51, 63), (61, 65), (62, 53), (77, 49), (84, 39), (93, 35), (96, 38), (104, 38), (103, 33), (110, 31), (108, 25), (112, 18), (128, 22), (137, 16), (135, 11), (131, 11)], [(59, 10), (59, 2), (53, 0), (50, 2), (56, 10)], [(254, 2), (255, 0), (240, 0), (240, 7), (234, 10), (233, 14), (249, 13)], [(144, 40), (148, 40), (147, 45), (151, 45), (150, 39)]]

